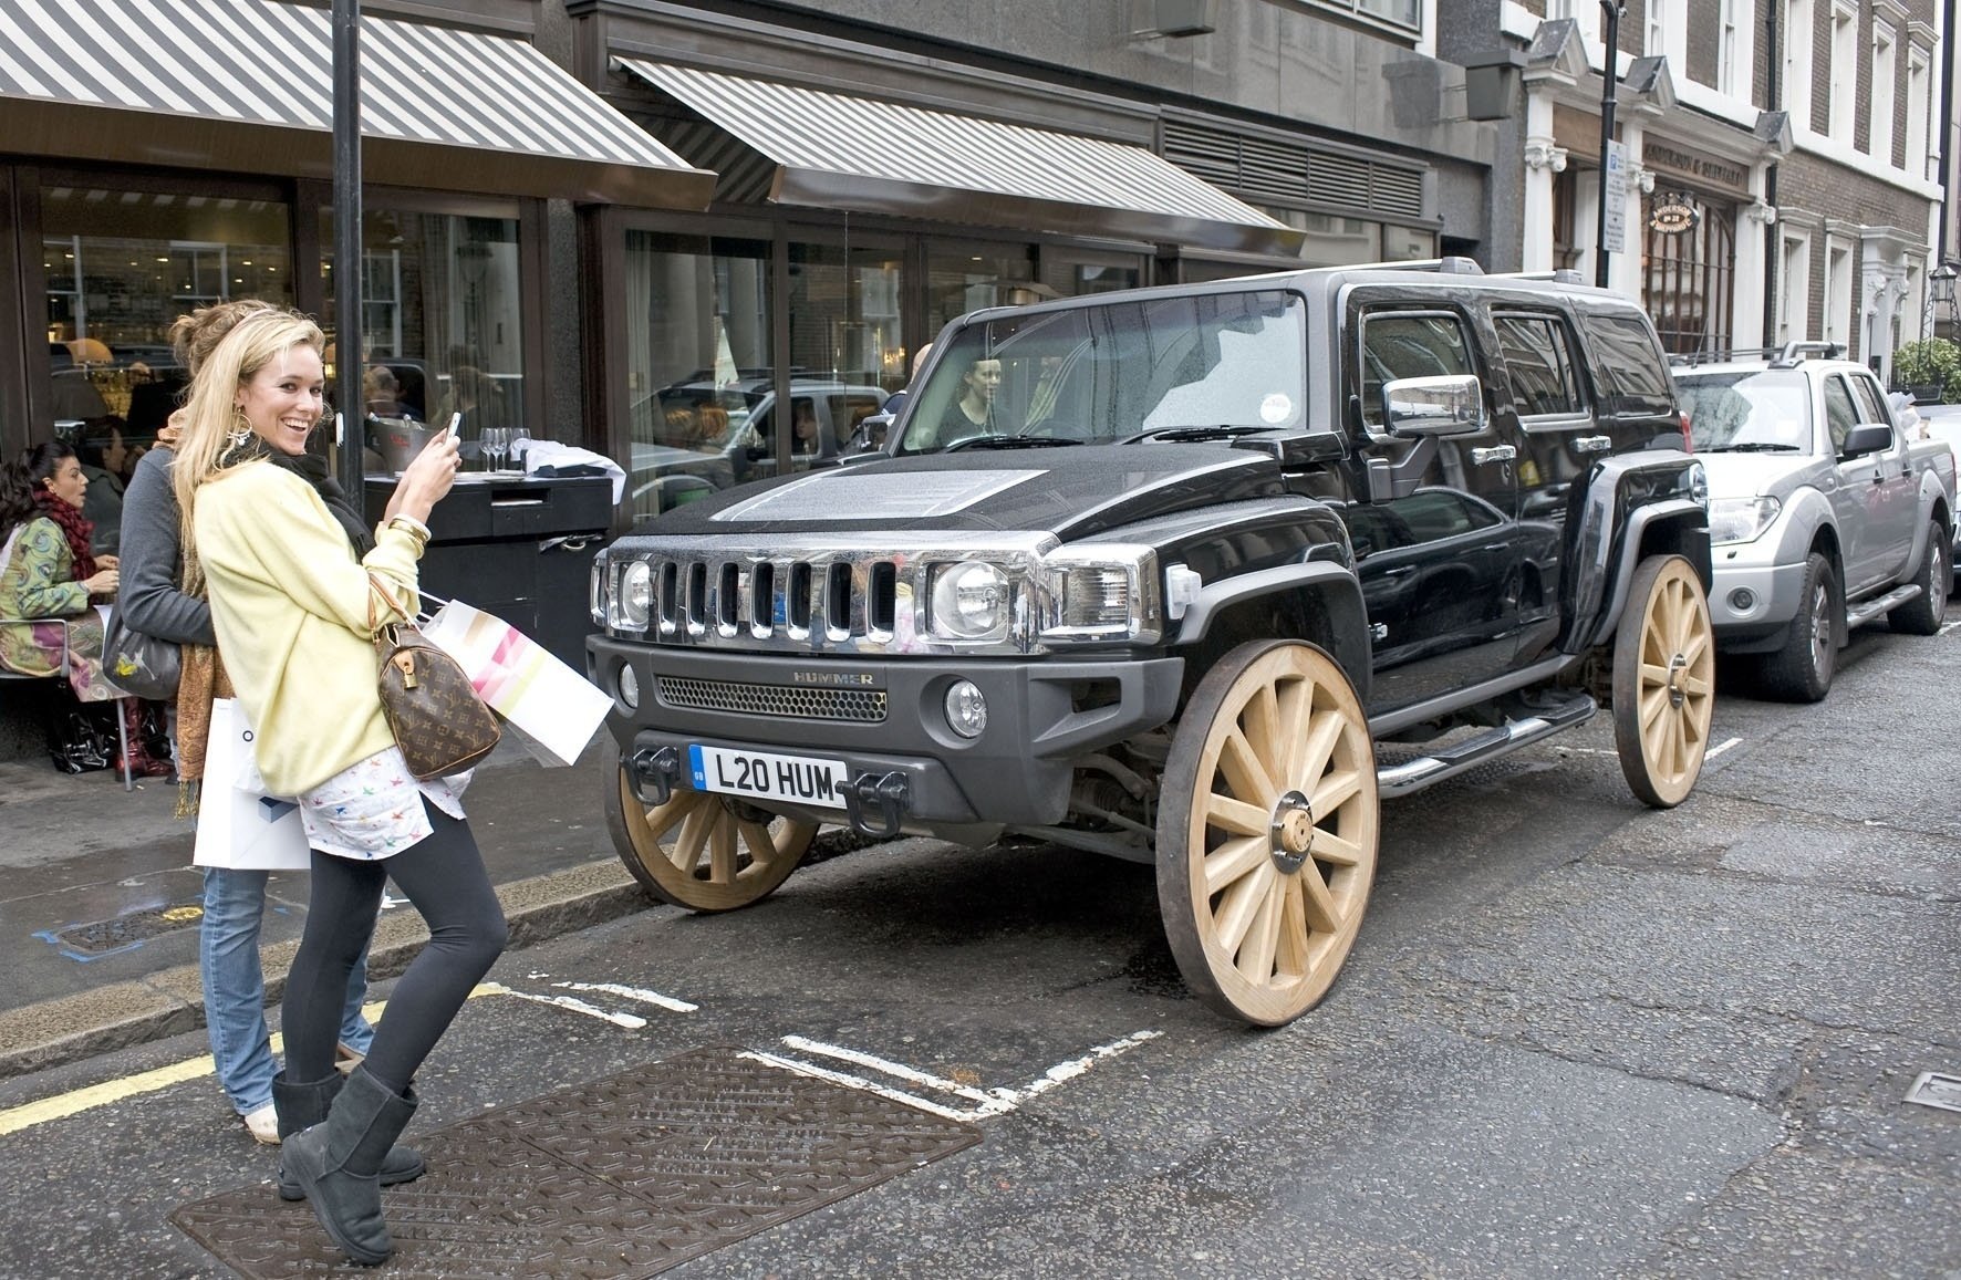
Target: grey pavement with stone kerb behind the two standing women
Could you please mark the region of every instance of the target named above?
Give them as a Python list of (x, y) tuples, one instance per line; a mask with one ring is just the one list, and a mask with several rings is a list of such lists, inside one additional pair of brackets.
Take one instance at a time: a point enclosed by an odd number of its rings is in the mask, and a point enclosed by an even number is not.
[[(620, 864), (600, 808), (598, 747), (545, 768), (516, 739), (477, 770), (471, 827), (510, 921), (510, 945), (651, 906)], [(176, 784), (0, 763), (0, 1078), (204, 1025), (198, 978), (202, 872)], [(392, 888), (392, 886), (390, 886)], [(275, 872), (261, 935), (277, 1006), (306, 917), (308, 876)], [(384, 900), (369, 976), (400, 974), (427, 929)]]

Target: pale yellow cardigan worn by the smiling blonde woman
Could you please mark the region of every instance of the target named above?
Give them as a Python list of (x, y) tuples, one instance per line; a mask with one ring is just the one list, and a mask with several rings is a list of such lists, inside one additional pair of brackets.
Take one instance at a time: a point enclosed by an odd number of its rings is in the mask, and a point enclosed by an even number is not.
[[(357, 561), (320, 494), (263, 461), (200, 486), (192, 523), (218, 653), (255, 729), (267, 790), (300, 796), (392, 747), (375, 690), (367, 574), (414, 612), (418, 541), (382, 527)], [(380, 621), (394, 617), (377, 608)]]

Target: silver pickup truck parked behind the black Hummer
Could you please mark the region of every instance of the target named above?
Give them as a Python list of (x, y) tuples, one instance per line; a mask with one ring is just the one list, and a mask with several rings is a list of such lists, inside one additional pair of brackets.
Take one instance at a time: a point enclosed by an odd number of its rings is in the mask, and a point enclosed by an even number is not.
[(1908, 441), (1873, 372), (1828, 343), (1675, 369), (1710, 484), (1710, 621), (1765, 692), (1818, 702), (1851, 627), (1941, 627), (1955, 459)]

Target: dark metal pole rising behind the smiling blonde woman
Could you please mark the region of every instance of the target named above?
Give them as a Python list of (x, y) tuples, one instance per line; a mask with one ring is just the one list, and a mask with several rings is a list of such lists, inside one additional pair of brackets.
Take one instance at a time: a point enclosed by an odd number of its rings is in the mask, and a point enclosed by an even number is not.
[(333, 0), (333, 404), (341, 414), (339, 480), (363, 506), (361, 445), (361, 0)]

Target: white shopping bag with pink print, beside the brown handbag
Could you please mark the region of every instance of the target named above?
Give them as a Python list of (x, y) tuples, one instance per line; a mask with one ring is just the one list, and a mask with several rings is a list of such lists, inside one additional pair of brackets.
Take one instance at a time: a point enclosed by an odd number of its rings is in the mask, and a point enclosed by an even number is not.
[(582, 672), (496, 614), (451, 600), (422, 633), (469, 672), (477, 696), (543, 764), (577, 763), (612, 710), (612, 698)]

